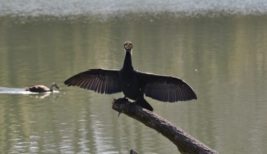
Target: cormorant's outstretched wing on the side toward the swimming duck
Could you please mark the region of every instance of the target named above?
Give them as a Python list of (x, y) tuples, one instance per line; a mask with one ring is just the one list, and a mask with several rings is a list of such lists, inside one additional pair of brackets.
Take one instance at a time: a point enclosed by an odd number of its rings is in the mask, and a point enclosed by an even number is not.
[(64, 82), (68, 86), (94, 90), (98, 93), (112, 94), (122, 91), (119, 70), (89, 69), (70, 77)]

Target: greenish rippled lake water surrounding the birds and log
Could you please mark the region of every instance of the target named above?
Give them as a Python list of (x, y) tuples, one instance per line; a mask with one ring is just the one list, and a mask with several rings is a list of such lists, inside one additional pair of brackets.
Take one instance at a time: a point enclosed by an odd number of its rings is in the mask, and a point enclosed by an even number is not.
[[(0, 153), (179, 153), (112, 110), (122, 93), (66, 87), (89, 68), (172, 75), (198, 100), (146, 100), (219, 153), (267, 153), (265, 1), (0, 1)], [(23, 87), (55, 82), (60, 92)]]

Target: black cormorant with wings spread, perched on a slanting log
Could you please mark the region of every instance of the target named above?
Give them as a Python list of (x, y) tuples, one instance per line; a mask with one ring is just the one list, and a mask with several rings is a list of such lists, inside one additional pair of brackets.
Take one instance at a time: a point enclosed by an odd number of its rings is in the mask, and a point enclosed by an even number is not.
[(139, 72), (132, 67), (132, 44), (125, 42), (125, 59), (121, 70), (89, 69), (76, 74), (64, 83), (68, 86), (112, 94), (123, 92), (125, 98), (150, 111), (153, 108), (144, 99), (144, 94), (162, 102), (188, 101), (197, 99), (194, 90), (181, 79), (173, 76)]

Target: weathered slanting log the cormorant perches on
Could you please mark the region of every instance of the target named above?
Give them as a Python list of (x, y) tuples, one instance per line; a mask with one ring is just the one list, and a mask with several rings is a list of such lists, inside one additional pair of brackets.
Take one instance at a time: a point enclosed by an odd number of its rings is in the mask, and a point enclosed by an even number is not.
[(157, 130), (164, 137), (173, 142), (181, 153), (218, 153), (205, 146), (195, 138), (189, 136), (178, 126), (168, 122), (154, 112), (146, 110), (139, 105), (121, 99), (112, 100), (112, 109), (136, 119), (146, 126)]

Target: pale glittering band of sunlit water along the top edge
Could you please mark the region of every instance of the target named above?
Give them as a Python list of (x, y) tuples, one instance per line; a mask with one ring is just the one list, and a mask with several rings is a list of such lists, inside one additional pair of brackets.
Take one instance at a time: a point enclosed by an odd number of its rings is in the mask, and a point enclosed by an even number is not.
[[(115, 17), (129, 13), (161, 14), (169, 12), (176, 16), (262, 15), (267, 13), (264, 0), (215, 0), (215, 1), (5, 1), (1, 0), (0, 16), (38, 17), (54, 16), (72, 20), (75, 16)], [(72, 16), (72, 17), (71, 17)]]

